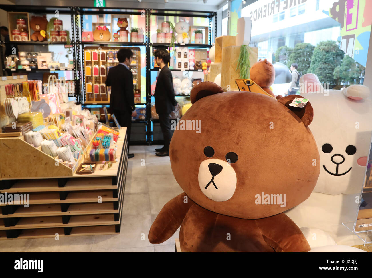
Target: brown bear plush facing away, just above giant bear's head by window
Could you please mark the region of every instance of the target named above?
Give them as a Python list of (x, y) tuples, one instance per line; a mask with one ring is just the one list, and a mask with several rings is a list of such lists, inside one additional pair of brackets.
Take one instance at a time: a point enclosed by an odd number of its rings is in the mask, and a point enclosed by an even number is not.
[(249, 75), (254, 83), (259, 85), (266, 93), (275, 97), (275, 94), (269, 88), (275, 80), (275, 68), (273, 64), (266, 59), (260, 59), (252, 65)]

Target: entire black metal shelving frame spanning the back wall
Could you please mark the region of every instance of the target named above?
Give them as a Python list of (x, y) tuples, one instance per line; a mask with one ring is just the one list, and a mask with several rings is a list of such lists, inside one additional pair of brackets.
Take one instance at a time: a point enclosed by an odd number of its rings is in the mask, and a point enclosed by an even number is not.
[[(0, 9), (6, 10), (7, 12), (30, 12), (30, 13), (55, 13), (58, 10), (61, 14), (71, 14), (71, 37), (73, 58), (74, 58), (74, 81), (75, 81), (75, 97), (78, 103), (83, 106), (87, 105), (99, 105), (104, 106), (107, 104), (97, 103), (85, 103), (86, 92), (85, 92), (85, 72), (84, 72), (84, 46), (145, 46), (146, 49), (146, 103), (140, 103), (136, 105), (146, 106), (146, 119), (145, 120), (134, 120), (132, 123), (145, 125), (145, 139), (131, 142), (131, 144), (147, 144), (152, 145), (162, 143), (162, 140), (153, 140), (153, 123), (158, 123), (158, 120), (151, 119), (151, 71), (158, 71), (157, 68), (151, 68), (151, 51), (154, 47), (169, 47), (166, 43), (151, 43), (150, 42), (150, 19), (151, 16), (179, 16), (179, 17), (205, 17), (209, 18), (209, 34), (208, 44), (180, 44), (176, 43), (176, 47), (193, 47), (193, 48), (211, 48), (212, 42), (217, 37), (217, 12), (200, 12), (191, 10), (166, 10), (166, 9), (127, 9), (124, 7), (117, 8), (98, 8), (98, 7), (59, 7), (59, 6), (22, 6), (22, 5), (0, 5)], [(81, 42), (81, 32), (83, 32), (83, 15), (84, 14), (142, 14), (146, 17), (145, 26), (145, 42)], [(212, 28), (214, 26), (214, 28)], [(213, 32), (214, 31), (214, 32)], [(61, 42), (12, 42), (17, 45), (65, 45), (66, 43)], [(3, 61), (3, 45), (4, 42), (0, 42), (0, 55), (1, 62)], [(5, 69), (3, 69), (5, 70)], [(50, 71), (50, 70), (33, 70), (33, 71)], [(171, 70), (171, 71), (182, 71), (182, 70)], [(201, 70), (187, 70), (187, 71), (201, 71)], [(185, 95), (177, 95), (176, 97), (189, 97)]]

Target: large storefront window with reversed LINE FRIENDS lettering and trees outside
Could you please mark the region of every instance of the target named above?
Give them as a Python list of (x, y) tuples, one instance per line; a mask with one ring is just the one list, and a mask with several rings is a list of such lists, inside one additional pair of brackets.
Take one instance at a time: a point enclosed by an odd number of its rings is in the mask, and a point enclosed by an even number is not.
[(297, 63), (301, 74), (314, 73), (338, 89), (363, 84), (369, 5), (359, 0), (258, 0), (243, 6), (241, 16), (252, 20), (250, 46), (259, 48), (259, 58), (288, 68)]

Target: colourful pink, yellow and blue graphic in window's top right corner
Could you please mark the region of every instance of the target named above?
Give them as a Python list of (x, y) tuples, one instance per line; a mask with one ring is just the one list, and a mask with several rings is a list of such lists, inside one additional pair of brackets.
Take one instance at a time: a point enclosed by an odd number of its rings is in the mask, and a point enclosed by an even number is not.
[(365, 67), (371, 35), (372, 1), (336, 1), (329, 9), (329, 16), (341, 24), (340, 49)]

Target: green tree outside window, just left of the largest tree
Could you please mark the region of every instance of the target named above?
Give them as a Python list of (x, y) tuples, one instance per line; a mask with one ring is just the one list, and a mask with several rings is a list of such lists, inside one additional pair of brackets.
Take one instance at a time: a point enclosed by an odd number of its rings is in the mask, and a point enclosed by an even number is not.
[(311, 43), (297, 43), (292, 53), (289, 55), (287, 67), (291, 68), (291, 64), (297, 63), (298, 72), (301, 72), (302, 74), (310, 72), (309, 68), (314, 48), (315, 46)]

